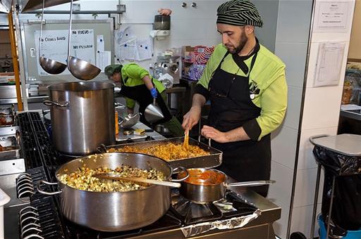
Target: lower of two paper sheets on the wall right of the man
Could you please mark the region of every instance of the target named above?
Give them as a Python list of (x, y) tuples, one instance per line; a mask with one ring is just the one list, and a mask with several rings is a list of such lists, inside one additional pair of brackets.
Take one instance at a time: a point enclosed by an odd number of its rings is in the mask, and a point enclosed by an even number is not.
[(314, 86), (338, 85), (345, 42), (322, 42), (319, 44)]

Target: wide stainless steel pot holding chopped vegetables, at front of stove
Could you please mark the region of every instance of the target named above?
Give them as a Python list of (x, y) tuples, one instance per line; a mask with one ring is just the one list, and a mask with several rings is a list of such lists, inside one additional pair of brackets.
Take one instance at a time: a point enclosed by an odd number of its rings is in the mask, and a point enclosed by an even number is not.
[[(63, 164), (56, 171), (56, 179), (59, 183), (41, 181), (37, 185), (37, 190), (39, 193), (47, 195), (60, 193), (61, 212), (76, 224), (98, 231), (128, 231), (152, 224), (169, 209), (171, 194), (168, 186), (152, 185), (142, 190), (129, 192), (98, 193), (71, 188), (59, 181), (60, 174), (75, 172), (84, 164), (90, 169), (101, 166), (115, 169), (122, 164), (140, 169), (153, 168), (163, 172), (168, 180), (171, 180), (171, 174), (173, 174), (168, 162), (158, 157), (137, 153), (90, 155)], [(186, 172), (185, 169), (183, 170)], [(41, 189), (41, 183), (59, 184), (60, 190), (59, 192), (46, 192)]]

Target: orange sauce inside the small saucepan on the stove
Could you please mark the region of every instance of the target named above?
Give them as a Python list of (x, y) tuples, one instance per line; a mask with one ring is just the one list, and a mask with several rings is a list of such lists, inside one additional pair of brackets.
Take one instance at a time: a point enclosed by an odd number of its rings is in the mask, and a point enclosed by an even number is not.
[[(202, 186), (212, 186), (223, 183), (226, 181), (225, 174), (221, 172), (216, 172), (214, 170), (200, 170), (200, 169), (187, 169), (189, 177), (185, 179), (186, 183), (202, 185)], [(185, 173), (181, 173), (179, 177), (184, 177)]]

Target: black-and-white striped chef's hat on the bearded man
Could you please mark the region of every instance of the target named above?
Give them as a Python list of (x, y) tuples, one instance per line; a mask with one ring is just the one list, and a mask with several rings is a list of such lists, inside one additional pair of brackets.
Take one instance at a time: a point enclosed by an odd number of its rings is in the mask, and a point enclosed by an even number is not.
[(217, 23), (262, 27), (262, 19), (257, 8), (248, 0), (226, 1), (217, 9)]

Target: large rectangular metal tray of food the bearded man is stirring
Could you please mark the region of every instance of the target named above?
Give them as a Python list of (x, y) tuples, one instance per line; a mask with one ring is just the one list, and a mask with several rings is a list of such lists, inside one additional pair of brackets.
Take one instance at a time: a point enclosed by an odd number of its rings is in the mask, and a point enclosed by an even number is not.
[[(136, 143), (124, 143), (124, 144), (118, 144), (113, 146), (105, 146), (105, 150), (108, 151), (109, 148), (116, 148), (120, 149), (124, 146), (137, 146), (139, 148), (146, 148), (149, 146), (154, 146), (159, 143), (183, 143), (184, 137), (178, 137), (178, 138), (166, 138), (166, 139), (160, 139), (160, 140), (154, 140), (154, 141), (142, 141), (142, 142), (136, 142)], [(205, 150), (206, 152), (209, 152), (209, 155), (199, 156), (199, 157), (187, 157), (183, 159), (178, 160), (171, 160), (168, 161), (169, 164), (171, 164), (171, 167), (185, 167), (185, 168), (195, 168), (195, 167), (217, 167), (221, 165), (222, 163), (222, 152), (220, 150), (217, 150), (216, 148), (212, 148), (210, 146), (207, 146), (207, 144), (196, 141), (192, 138), (189, 138), (189, 144), (192, 146), (198, 146), (202, 148), (202, 150)]]

